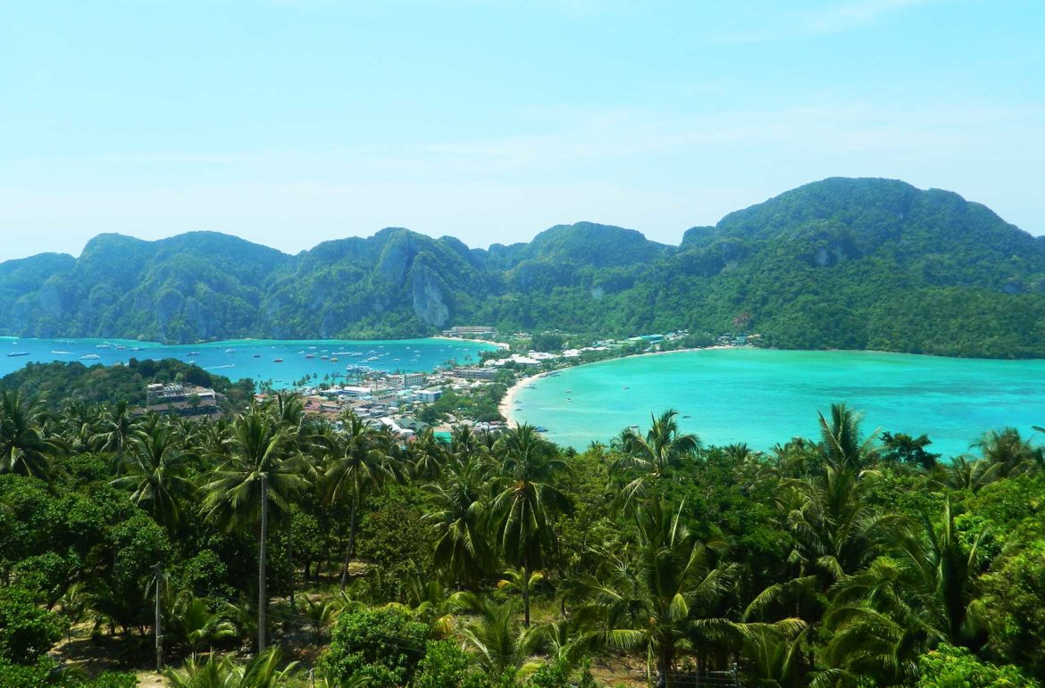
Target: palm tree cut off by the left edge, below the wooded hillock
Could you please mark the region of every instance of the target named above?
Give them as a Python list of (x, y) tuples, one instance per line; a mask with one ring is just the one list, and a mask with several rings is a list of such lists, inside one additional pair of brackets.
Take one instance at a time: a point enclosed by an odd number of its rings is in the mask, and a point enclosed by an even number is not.
[(61, 443), (44, 433), (46, 411), (19, 389), (0, 392), (0, 473), (47, 479)]

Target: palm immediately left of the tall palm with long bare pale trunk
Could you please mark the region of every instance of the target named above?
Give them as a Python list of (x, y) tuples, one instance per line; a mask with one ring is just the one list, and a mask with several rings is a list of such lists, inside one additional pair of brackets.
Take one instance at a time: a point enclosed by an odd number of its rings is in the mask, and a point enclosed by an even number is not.
[(164, 425), (153, 425), (131, 435), (120, 466), (126, 475), (111, 484), (132, 487), (131, 500), (145, 506), (160, 525), (173, 527), (181, 521), (180, 496), (195, 490), (184, 477), (184, 454)]

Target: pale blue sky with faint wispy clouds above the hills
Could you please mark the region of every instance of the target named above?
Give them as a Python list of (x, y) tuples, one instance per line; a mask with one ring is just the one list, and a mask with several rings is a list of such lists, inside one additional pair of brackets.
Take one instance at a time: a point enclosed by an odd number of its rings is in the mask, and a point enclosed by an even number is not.
[(0, 3), (0, 260), (686, 229), (828, 176), (1045, 234), (1041, 0)]

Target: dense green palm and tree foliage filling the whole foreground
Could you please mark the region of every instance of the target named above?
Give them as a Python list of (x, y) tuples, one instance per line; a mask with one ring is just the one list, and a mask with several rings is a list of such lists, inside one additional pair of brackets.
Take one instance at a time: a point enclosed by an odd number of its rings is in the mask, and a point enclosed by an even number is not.
[(176, 686), (1045, 681), (1045, 452), (1012, 429), (943, 462), (842, 404), (765, 453), (673, 411), (577, 453), (402, 445), (289, 395), (110, 410), (0, 390), (4, 685), (129, 685), (47, 654), (150, 666), (157, 595)]

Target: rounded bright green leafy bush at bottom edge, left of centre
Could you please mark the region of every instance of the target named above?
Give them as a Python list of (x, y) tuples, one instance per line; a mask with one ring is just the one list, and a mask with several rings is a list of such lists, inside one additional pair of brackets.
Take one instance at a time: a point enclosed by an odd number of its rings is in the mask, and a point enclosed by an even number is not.
[(338, 619), (321, 668), (335, 683), (366, 678), (369, 688), (398, 688), (424, 657), (427, 634), (427, 625), (400, 610), (349, 612)]

